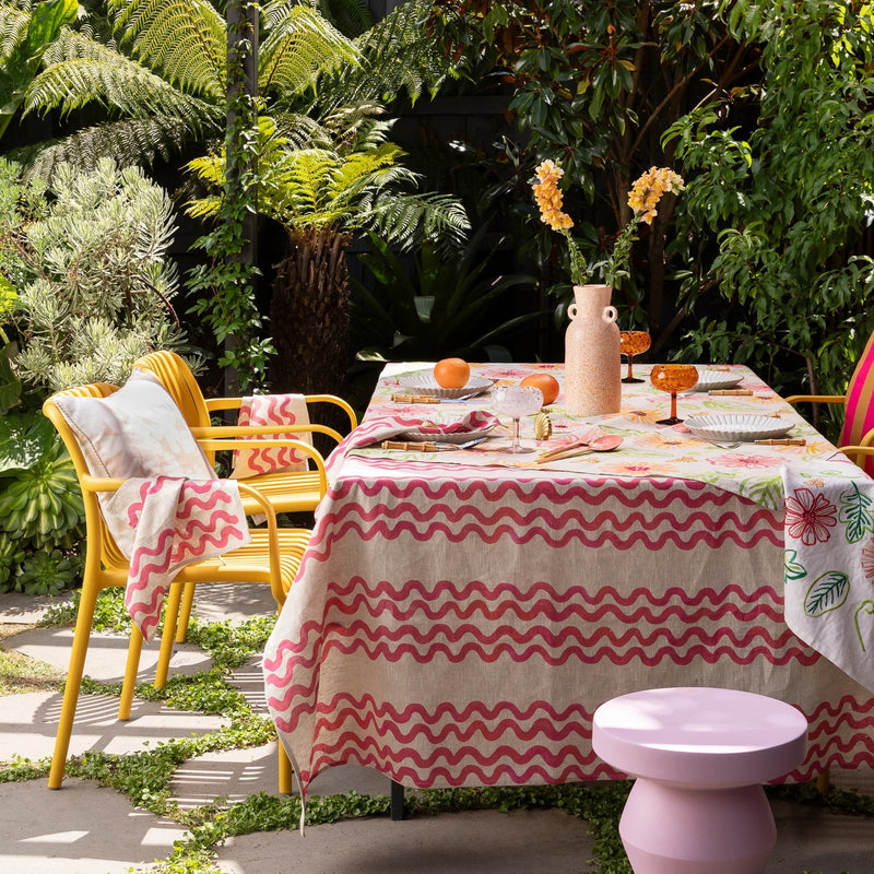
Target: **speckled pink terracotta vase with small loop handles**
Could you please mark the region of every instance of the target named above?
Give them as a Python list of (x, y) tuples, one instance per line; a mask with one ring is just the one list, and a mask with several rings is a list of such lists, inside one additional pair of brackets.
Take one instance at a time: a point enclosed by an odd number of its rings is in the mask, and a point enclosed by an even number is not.
[(575, 416), (618, 413), (622, 358), (610, 285), (575, 285), (565, 333), (565, 410)]

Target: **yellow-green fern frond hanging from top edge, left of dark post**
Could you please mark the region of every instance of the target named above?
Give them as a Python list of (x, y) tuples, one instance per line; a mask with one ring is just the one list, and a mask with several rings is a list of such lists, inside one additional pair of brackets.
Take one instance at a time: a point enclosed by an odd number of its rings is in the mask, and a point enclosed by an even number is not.
[(227, 28), (204, 0), (108, 0), (122, 45), (142, 63), (190, 94), (225, 95)]

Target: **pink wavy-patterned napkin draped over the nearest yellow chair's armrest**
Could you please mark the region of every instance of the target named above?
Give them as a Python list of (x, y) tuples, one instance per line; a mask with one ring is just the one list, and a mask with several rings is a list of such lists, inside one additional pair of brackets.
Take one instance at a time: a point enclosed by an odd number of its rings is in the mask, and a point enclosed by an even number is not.
[(128, 480), (113, 495), (111, 511), (126, 523), (117, 538), (130, 559), (125, 605), (145, 640), (179, 570), (250, 540), (239, 487), (229, 480)]

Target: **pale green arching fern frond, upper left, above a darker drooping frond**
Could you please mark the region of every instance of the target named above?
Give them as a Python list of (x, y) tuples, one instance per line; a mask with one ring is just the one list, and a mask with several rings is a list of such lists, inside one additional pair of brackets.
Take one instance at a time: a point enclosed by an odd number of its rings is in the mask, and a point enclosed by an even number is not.
[(185, 94), (118, 51), (68, 31), (46, 52), (46, 69), (27, 88), (24, 111), (62, 115), (98, 103), (134, 118), (188, 118), (196, 132), (220, 123), (210, 103)]

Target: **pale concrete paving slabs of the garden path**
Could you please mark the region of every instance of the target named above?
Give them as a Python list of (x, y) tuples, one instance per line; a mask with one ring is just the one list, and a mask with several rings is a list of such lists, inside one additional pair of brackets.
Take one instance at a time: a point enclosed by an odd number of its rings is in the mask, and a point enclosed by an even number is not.
[[(240, 601), (222, 587), (200, 587), (197, 611), (211, 618), (268, 614), (273, 605), (264, 587), (247, 587)], [(240, 606), (241, 604), (241, 606)], [(45, 609), (44, 601), (0, 594), (0, 624), (26, 628)], [(66, 669), (69, 629), (32, 629), (3, 641), (32, 658)], [(98, 680), (118, 680), (123, 672), (127, 640), (96, 635), (86, 672)], [(143, 651), (141, 675), (154, 672), (156, 647)], [(200, 670), (205, 657), (184, 645), (173, 671)], [(150, 673), (151, 672), (151, 673)], [(252, 706), (263, 708), (258, 660), (236, 674), (236, 685)], [(129, 753), (162, 740), (212, 731), (216, 717), (181, 713), (157, 704), (137, 701), (129, 722), (116, 719), (116, 699), (82, 696), (71, 753), (105, 749)], [(0, 699), (0, 761), (14, 756), (37, 760), (50, 756), (60, 712), (60, 695), (29, 693)], [(874, 772), (863, 768), (832, 775), (842, 788), (874, 794)], [(232, 802), (256, 792), (273, 794), (276, 749), (235, 749), (185, 763), (172, 789), (179, 803), (193, 807), (217, 796)], [(388, 794), (389, 781), (365, 768), (346, 766), (315, 781), (315, 794), (355, 789), (362, 794)], [(836, 816), (822, 807), (772, 803), (778, 839), (766, 874), (872, 874), (874, 820)], [(68, 779), (60, 791), (45, 780), (0, 784), (0, 872), (2, 874), (125, 874), (132, 866), (147, 871), (165, 859), (184, 831), (133, 807), (128, 799), (96, 783)], [(297, 831), (244, 835), (218, 849), (227, 874), (581, 874), (595, 871), (592, 841), (584, 822), (557, 811), (500, 814), (481, 811), (422, 816), (402, 823), (374, 818), (310, 826)]]

